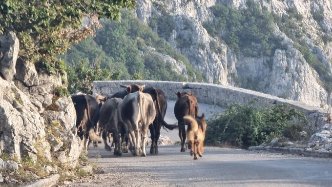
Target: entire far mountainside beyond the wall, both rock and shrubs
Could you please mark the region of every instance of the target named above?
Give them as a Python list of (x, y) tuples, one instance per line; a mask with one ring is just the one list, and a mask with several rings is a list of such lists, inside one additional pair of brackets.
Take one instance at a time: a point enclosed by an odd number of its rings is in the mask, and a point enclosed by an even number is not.
[(210, 83), (330, 104), (331, 1), (138, 0), (136, 14)]

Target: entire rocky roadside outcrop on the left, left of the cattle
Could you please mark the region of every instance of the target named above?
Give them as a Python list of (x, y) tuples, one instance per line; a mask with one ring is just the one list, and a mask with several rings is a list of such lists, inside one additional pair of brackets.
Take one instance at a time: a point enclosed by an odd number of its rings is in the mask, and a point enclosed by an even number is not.
[[(53, 97), (55, 88), (62, 86), (62, 76), (38, 75), (34, 64), (16, 62), (15, 33), (0, 36), (0, 46), (0, 158), (31, 160), (53, 173), (57, 168), (51, 166), (57, 162), (75, 168), (82, 149), (75, 108), (69, 97)], [(0, 186), (8, 182), (2, 173), (6, 170), (0, 169)]]

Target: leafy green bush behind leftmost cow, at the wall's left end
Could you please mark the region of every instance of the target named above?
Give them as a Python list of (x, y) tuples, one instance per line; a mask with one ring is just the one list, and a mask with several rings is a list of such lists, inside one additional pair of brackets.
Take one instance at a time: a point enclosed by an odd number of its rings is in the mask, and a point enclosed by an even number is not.
[(101, 68), (100, 62), (90, 64), (87, 61), (73, 64), (67, 68), (68, 90), (70, 93), (82, 91), (92, 94), (93, 81), (120, 80), (121, 72), (111, 72)]

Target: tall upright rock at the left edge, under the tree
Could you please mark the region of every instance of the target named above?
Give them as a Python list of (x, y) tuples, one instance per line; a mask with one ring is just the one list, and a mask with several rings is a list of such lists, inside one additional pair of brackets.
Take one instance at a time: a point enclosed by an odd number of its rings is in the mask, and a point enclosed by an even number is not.
[(15, 65), (19, 55), (19, 40), (16, 34), (9, 32), (7, 35), (0, 35), (0, 74), (3, 79), (12, 81), (16, 73)]

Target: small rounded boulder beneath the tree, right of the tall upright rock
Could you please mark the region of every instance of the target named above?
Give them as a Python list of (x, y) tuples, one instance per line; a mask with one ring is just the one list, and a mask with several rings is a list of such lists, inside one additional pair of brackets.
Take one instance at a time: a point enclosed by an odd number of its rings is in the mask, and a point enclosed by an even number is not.
[(15, 78), (24, 83), (25, 86), (39, 85), (38, 74), (32, 62), (19, 59), (16, 63), (16, 70)]

